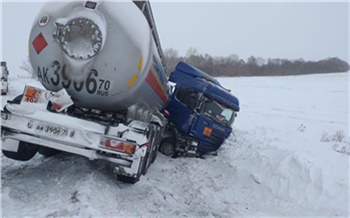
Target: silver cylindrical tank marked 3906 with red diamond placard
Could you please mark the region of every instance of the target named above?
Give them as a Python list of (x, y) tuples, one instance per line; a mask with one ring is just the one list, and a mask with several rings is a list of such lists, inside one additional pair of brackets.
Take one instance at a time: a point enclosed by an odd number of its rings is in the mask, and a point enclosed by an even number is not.
[(169, 99), (150, 24), (131, 1), (47, 3), (29, 57), (43, 86), (65, 88), (79, 107), (152, 113)]

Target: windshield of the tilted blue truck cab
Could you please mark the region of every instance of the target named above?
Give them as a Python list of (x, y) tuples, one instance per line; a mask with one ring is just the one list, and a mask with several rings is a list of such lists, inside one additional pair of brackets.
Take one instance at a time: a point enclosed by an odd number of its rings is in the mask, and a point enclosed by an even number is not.
[(204, 102), (201, 113), (228, 127), (232, 125), (235, 118), (235, 112), (232, 109), (211, 99)]

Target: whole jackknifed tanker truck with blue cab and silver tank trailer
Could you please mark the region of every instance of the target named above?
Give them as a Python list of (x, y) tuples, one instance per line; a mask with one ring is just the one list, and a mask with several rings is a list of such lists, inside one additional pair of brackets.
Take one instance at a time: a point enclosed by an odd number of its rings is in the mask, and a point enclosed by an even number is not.
[[(106, 161), (118, 180), (135, 183), (158, 150), (173, 157), (216, 150), (239, 110), (237, 98), (186, 63), (170, 86), (148, 1), (46, 3), (29, 58), (44, 88), (27, 85), (1, 111), (1, 149), (14, 160), (64, 151)], [(179, 97), (182, 89), (196, 93), (195, 107)], [(213, 102), (216, 116), (231, 112), (227, 123), (208, 115)]]

